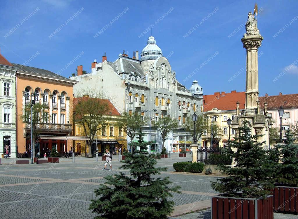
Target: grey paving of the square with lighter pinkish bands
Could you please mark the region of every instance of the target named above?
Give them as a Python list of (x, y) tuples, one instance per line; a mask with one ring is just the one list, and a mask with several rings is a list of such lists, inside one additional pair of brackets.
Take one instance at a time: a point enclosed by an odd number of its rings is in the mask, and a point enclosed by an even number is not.
[[(171, 173), (173, 163), (189, 161), (191, 156), (179, 158), (178, 154), (171, 158), (158, 160), (157, 167), (167, 167), (167, 172), (155, 175), (154, 178), (169, 177), (171, 186), (181, 186), (180, 194), (173, 193), (169, 200), (175, 204), (172, 215), (179, 215), (185, 209), (197, 210), (210, 206), (211, 195), (216, 192), (211, 188), (210, 181), (217, 176), (189, 175)], [(94, 218), (96, 215), (89, 210), (95, 197), (94, 189), (107, 175), (129, 170), (118, 169), (121, 163), (114, 156), (113, 171), (102, 170), (103, 161), (95, 162), (95, 158), (60, 158), (58, 164), (25, 164), (16, 165), (16, 159), (1, 159), (0, 165), (0, 208), (2, 219), (10, 218)], [(101, 158), (99, 158), (101, 160)], [(30, 163), (30, 162), (29, 162)], [(3, 210), (5, 209), (5, 210)], [(298, 216), (278, 214), (277, 218), (298, 219)], [(205, 210), (176, 218), (210, 218), (210, 211)]]

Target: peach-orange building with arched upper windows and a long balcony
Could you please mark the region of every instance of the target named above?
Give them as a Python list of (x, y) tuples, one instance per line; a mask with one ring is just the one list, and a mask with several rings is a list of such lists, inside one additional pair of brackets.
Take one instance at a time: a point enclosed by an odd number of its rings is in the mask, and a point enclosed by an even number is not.
[[(12, 63), (13, 64), (13, 63)], [(20, 118), (25, 104), (30, 104), (26, 99), (27, 93), (38, 93), (35, 102), (46, 104), (46, 119), (38, 124), (39, 138), (35, 141), (35, 152), (41, 155), (56, 147), (58, 152), (68, 151), (72, 141), (66, 136), (72, 134), (72, 99), (73, 85), (77, 81), (57, 75), (51, 71), (13, 64), (18, 68), (16, 75), (16, 102), (17, 102), (17, 146), (18, 152), (30, 150), (30, 123), (24, 123)]]

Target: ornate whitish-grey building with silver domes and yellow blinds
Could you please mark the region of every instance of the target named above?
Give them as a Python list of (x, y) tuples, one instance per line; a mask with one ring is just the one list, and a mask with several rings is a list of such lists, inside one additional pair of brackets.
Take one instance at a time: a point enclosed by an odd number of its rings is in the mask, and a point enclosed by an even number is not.
[[(194, 112), (201, 113), (203, 90), (198, 81), (193, 81), (190, 90), (177, 81), (175, 71), (153, 36), (148, 38), (140, 60), (138, 51), (132, 58), (123, 51), (114, 62), (107, 61), (106, 56), (101, 63), (94, 60), (91, 73), (83, 75), (82, 70), (83, 67), (78, 66), (77, 76), (71, 77), (79, 81), (74, 85), (74, 93), (86, 89), (104, 91), (107, 96), (115, 98), (113, 104), (119, 112), (138, 112), (144, 117), (151, 116), (151, 120), (159, 116), (176, 118), (179, 127), (167, 136), (167, 151), (178, 152), (184, 146), (189, 150), (193, 139), (185, 132), (183, 122)], [(145, 109), (156, 109), (156, 112), (152, 111), (150, 115), (148, 111), (144, 112)], [(144, 140), (149, 141), (149, 121), (142, 131), (145, 132)], [(160, 151), (162, 138), (154, 127), (151, 128), (151, 141), (154, 141), (151, 151)]]

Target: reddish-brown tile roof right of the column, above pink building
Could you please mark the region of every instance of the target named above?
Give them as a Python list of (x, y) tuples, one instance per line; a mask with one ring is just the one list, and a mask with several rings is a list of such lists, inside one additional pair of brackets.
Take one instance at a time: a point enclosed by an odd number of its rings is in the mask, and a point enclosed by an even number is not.
[(268, 103), (268, 109), (279, 109), (280, 106), (283, 106), (283, 108), (298, 107), (298, 94), (265, 96), (259, 97), (259, 100), (261, 109), (264, 109), (264, 102)]

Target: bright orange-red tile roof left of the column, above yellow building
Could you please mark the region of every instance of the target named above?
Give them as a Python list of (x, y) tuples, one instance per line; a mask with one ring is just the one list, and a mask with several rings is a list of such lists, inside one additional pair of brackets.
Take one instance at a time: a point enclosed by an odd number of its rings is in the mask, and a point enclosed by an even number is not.
[(203, 96), (204, 112), (212, 110), (213, 108), (221, 110), (236, 110), (236, 102), (239, 102), (239, 109), (245, 108), (245, 92), (236, 92), (232, 90), (231, 93), (215, 92), (211, 95)]

